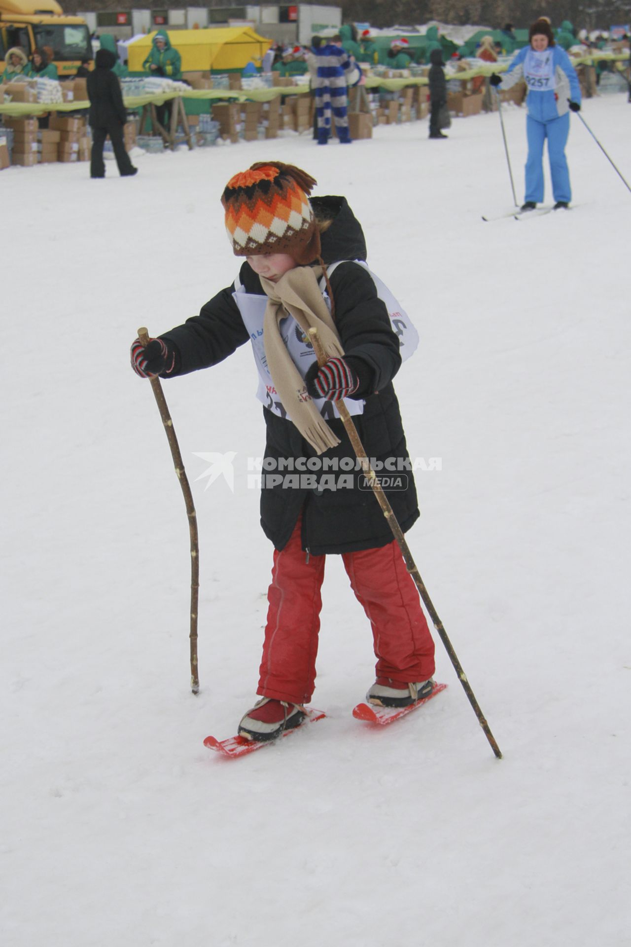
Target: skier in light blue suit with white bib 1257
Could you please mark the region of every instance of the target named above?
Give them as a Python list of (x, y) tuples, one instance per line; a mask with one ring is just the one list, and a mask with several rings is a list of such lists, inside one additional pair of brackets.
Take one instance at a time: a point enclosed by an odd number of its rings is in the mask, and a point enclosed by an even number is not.
[(550, 22), (542, 17), (529, 30), (530, 44), (517, 53), (503, 76), (494, 73), (491, 85), (510, 89), (523, 79), (528, 86), (526, 106), (526, 194), (522, 210), (534, 210), (543, 201), (543, 145), (548, 139), (555, 210), (568, 209), (571, 201), (566, 143), (570, 112), (581, 108), (576, 70), (564, 49), (555, 45)]

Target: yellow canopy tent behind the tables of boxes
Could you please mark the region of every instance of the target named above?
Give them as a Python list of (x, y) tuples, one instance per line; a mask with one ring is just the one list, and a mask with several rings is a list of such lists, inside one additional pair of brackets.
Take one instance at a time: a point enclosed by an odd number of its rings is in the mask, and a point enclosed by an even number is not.
[[(142, 72), (156, 32), (128, 46), (130, 72)], [(259, 36), (252, 27), (167, 29), (167, 33), (170, 44), (182, 56), (183, 72), (227, 72), (242, 69), (251, 60), (260, 65), (272, 45), (272, 40)]]

